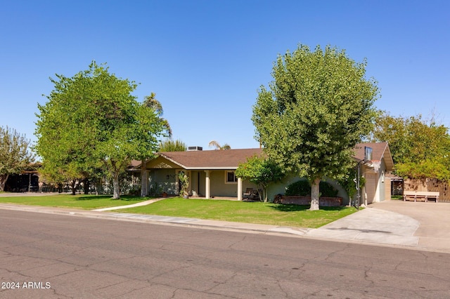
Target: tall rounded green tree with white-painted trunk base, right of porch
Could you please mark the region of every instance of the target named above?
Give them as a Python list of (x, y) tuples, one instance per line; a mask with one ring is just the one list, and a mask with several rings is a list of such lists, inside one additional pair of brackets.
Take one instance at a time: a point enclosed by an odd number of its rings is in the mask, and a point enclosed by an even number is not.
[(378, 87), (366, 79), (366, 60), (345, 51), (307, 46), (274, 62), (274, 81), (253, 107), (256, 138), (285, 172), (311, 182), (311, 210), (319, 209), (321, 178), (341, 178), (352, 167), (354, 145), (373, 126)]

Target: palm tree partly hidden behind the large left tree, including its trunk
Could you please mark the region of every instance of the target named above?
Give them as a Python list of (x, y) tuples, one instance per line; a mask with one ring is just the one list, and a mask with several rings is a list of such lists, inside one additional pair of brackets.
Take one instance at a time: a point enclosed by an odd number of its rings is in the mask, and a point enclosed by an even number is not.
[[(169, 121), (167, 119), (162, 118), (162, 114), (164, 111), (162, 109), (161, 102), (156, 100), (155, 93), (150, 93), (144, 98), (143, 107), (153, 110), (153, 112), (158, 116), (158, 121), (160, 122), (160, 126), (167, 133), (167, 136), (172, 136), (172, 128), (170, 128)], [(148, 195), (148, 178), (146, 171), (146, 159), (148, 156), (141, 157), (141, 197), (146, 197)]]

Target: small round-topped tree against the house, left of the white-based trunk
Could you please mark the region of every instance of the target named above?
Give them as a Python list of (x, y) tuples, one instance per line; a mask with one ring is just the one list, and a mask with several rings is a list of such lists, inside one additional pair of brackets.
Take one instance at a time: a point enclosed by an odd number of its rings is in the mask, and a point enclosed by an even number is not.
[(256, 185), (263, 191), (259, 192), (259, 200), (267, 201), (267, 188), (271, 182), (276, 182), (284, 177), (283, 171), (274, 161), (262, 157), (250, 157), (236, 169), (236, 176)]

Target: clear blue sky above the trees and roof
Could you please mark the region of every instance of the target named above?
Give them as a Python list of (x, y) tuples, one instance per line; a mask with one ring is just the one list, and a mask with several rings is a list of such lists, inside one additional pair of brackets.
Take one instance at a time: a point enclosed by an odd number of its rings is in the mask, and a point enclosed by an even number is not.
[(92, 60), (156, 93), (174, 139), (258, 147), (252, 105), (298, 44), (367, 59), (378, 109), (450, 126), (450, 2), (1, 1), (0, 126), (33, 142), (37, 103)]

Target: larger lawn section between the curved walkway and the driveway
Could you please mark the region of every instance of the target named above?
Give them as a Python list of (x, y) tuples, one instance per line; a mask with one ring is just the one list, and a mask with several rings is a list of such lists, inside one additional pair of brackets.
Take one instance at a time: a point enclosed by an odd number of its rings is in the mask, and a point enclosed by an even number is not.
[(321, 227), (357, 211), (347, 207), (321, 207), (319, 211), (308, 211), (308, 208), (309, 206), (176, 197), (148, 206), (117, 211), (289, 227)]

